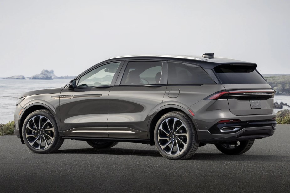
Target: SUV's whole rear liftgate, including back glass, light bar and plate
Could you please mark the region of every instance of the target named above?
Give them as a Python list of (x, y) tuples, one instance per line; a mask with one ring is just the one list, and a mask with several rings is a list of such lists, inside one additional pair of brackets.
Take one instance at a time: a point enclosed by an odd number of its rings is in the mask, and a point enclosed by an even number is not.
[(256, 70), (256, 65), (223, 64), (214, 68), (230, 93), (229, 109), (235, 115), (271, 114), (275, 91)]

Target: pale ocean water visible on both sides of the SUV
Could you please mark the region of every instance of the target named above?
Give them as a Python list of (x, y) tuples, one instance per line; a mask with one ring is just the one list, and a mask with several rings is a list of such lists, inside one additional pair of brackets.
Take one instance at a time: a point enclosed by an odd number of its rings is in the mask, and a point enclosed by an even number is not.
[[(70, 79), (53, 79), (53, 80), (6, 80), (0, 79), (0, 123), (7, 123), (14, 120), (15, 103), (21, 93), (41, 90), (60, 88), (66, 85)], [(290, 96), (276, 95), (274, 102), (283, 102), (290, 105)], [(283, 106), (283, 109), (290, 109)], [(274, 109), (277, 113), (282, 109)]]

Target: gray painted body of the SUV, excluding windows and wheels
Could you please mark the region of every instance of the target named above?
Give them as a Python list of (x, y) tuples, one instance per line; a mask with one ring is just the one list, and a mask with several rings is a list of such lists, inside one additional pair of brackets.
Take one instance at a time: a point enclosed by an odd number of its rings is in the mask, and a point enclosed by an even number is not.
[[(76, 77), (78, 79), (88, 71), (102, 65), (119, 61), (119, 58), (99, 63)], [(237, 99), (204, 100), (209, 95), (222, 90), (271, 89), (269, 84), (203, 84), (203, 85), (167, 85), (167, 61), (187, 62), (213, 68), (224, 63), (246, 63), (230, 59), (190, 60), (170, 57), (129, 57), (122, 58), (113, 85), (108, 88), (46, 89), (24, 93), (27, 96), (15, 110), (15, 128), (21, 135), (21, 126), (25, 112), (38, 105), (50, 110), (55, 116), (62, 137), (114, 140), (149, 140), (151, 125), (155, 116), (166, 108), (175, 108), (186, 113), (192, 120), (200, 141), (237, 137), (246, 130), (274, 130), (269, 125), (245, 127), (236, 133), (212, 134), (208, 130), (218, 121), (240, 119), (241, 121), (263, 121), (276, 117), (273, 111), (273, 98), (261, 102), (261, 109), (251, 109), (249, 101)], [(130, 85), (119, 86), (125, 66), (129, 60), (163, 61), (161, 82), (158, 86)], [(204, 60), (204, 61), (202, 61)], [(209, 61), (208, 61), (209, 60)], [(216, 63), (214, 63), (216, 61)], [(123, 65), (124, 63), (124, 65)], [(247, 63), (253, 64), (253, 63)], [(209, 74), (209, 75), (213, 75)], [(217, 82), (215, 78), (215, 82)], [(188, 110), (194, 113), (192, 116)], [(27, 113), (25, 114), (27, 115)], [(18, 131), (17, 131), (18, 130)], [(259, 136), (252, 137), (259, 138)], [(151, 139), (152, 140), (152, 139)], [(214, 140), (213, 140), (214, 141)]]

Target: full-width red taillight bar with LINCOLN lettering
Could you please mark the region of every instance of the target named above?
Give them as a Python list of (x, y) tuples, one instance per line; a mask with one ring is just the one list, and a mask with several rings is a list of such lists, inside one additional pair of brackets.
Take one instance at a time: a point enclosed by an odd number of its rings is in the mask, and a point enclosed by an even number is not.
[(233, 96), (253, 96), (253, 95), (271, 95), (273, 96), (275, 94), (275, 90), (267, 89), (267, 90), (223, 90), (216, 92), (206, 98), (204, 100), (217, 100), (222, 98), (225, 95), (231, 95)]

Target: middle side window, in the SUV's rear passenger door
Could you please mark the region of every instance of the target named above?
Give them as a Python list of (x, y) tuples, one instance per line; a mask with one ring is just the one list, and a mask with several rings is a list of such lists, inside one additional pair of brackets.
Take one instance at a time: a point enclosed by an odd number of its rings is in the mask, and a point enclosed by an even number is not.
[(128, 62), (121, 85), (159, 84), (162, 62), (132, 61)]

